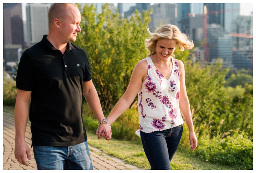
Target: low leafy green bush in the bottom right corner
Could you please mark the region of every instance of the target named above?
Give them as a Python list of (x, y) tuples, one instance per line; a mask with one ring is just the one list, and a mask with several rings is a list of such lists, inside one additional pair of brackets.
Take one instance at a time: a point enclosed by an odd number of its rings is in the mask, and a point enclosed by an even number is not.
[(243, 131), (233, 132), (232, 136), (225, 138), (201, 139), (195, 150), (196, 155), (211, 163), (232, 165), (235, 169), (252, 169), (252, 139)]

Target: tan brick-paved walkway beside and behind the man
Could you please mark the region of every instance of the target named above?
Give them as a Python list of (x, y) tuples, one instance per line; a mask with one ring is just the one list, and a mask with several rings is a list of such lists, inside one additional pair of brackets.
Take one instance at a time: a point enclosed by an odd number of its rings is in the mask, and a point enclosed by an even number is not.
[[(14, 156), (14, 145), (15, 145), (15, 126), (14, 126), (14, 115), (9, 113), (4, 113), (3, 115), (3, 125), (4, 125), (4, 167), (3, 169), (37, 169), (36, 161), (34, 159), (33, 148), (30, 148), (31, 160), (28, 160), (29, 166), (20, 164)], [(31, 146), (31, 131), (30, 125), (28, 123), (26, 130), (26, 142), (28, 146)], [(140, 169), (133, 165), (125, 164), (124, 161), (114, 158), (106, 153), (103, 153), (97, 148), (94, 148), (89, 145), (89, 150), (92, 159), (93, 169), (120, 169), (120, 170), (131, 170), (131, 169)]]

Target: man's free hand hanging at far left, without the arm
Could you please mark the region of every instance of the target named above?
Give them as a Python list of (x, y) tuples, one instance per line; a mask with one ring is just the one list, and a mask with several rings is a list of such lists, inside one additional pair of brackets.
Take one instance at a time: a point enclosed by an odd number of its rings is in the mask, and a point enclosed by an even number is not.
[(25, 141), (23, 142), (15, 141), (15, 149), (14, 149), (15, 158), (21, 164), (28, 166), (28, 163), (26, 161), (26, 154), (28, 156), (28, 160), (31, 160), (31, 155), (30, 155), (30, 151), (27, 143)]

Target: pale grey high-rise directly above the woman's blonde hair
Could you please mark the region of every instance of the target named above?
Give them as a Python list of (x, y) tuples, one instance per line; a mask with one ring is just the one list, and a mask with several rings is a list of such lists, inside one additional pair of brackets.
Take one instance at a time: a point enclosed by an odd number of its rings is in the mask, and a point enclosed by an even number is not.
[(164, 24), (177, 25), (177, 4), (153, 4), (153, 13), (148, 26), (153, 29)]

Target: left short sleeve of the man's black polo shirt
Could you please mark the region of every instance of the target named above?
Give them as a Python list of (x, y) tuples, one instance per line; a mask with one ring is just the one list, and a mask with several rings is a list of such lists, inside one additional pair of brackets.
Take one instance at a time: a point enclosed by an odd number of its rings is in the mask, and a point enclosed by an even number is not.
[(35, 75), (35, 66), (32, 59), (23, 52), (18, 65), (16, 87), (20, 90), (32, 91)]

